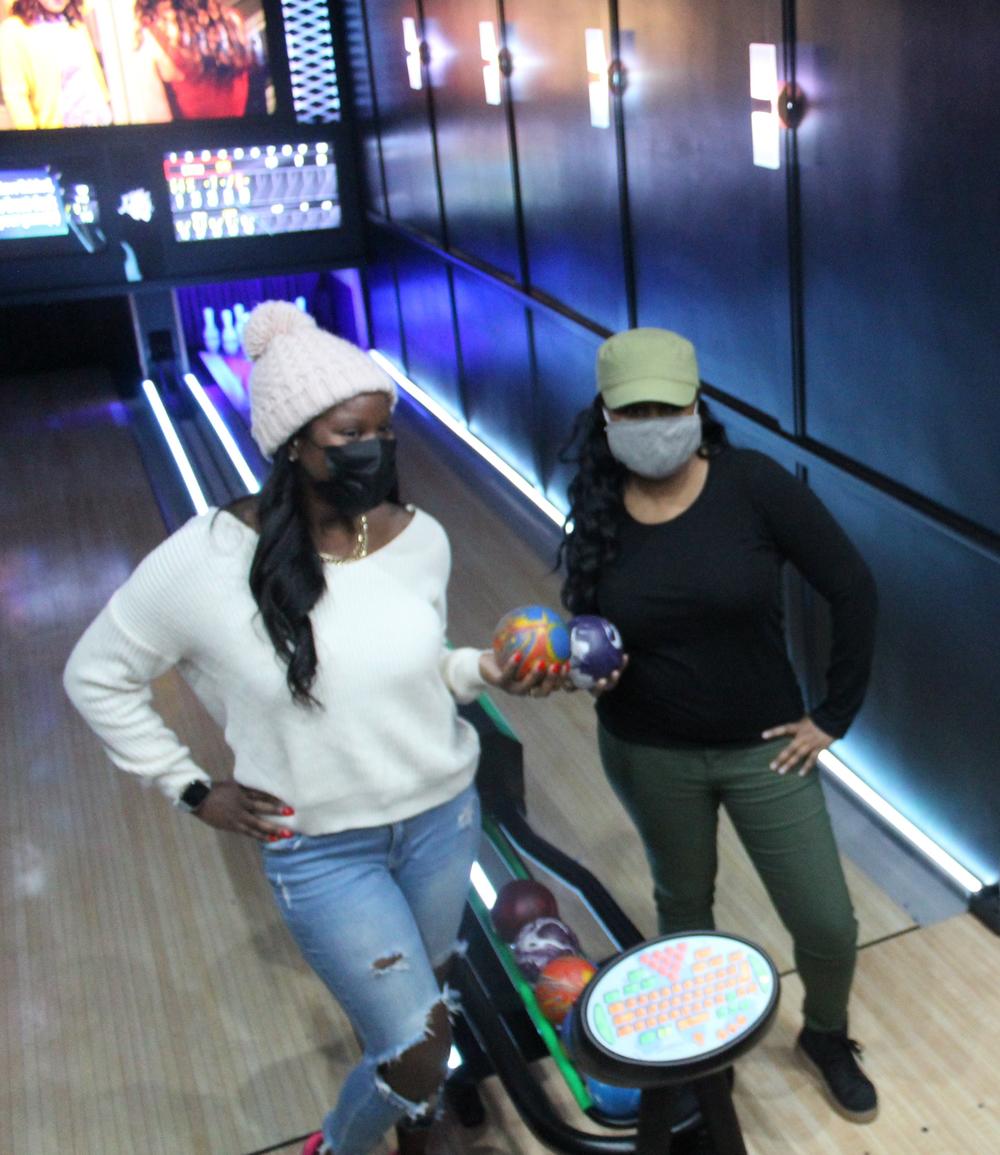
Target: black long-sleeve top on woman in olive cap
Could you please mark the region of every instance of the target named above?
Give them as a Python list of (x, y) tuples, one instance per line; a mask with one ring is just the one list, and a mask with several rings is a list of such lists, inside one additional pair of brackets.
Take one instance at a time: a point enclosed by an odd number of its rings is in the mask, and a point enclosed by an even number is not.
[(645, 526), (621, 513), (597, 612), (620, 629), (629, 665), (598, 699), (602, 723), (644, 745), (719, 745), (800, 718), (782, 609), (785, 561), (830, 604), (827, 695), (809, 716), (842, 737), (868, 681), (874, 581), (804, 483), (734, 448), (711, 459), (704, 489), (679, 516)]

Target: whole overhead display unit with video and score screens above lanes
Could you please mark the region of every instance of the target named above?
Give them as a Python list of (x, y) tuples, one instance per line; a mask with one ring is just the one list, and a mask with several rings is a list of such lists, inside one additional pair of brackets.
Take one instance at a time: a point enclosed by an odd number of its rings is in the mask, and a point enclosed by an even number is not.
[[(197, 84), (162, 79), (155, 6), (94, 0), (88, 10), (106, 106), (62, 126), (36, 122), (30, 98), (0, 102), (0, 299), (137, 300), (184, 282), (361, 262), (339, 6), (217, 6), (218, 36), (209, 29), (204, 44), (199, 32), (167, 52), (187, 53), (174, 62), (185, 76), (203, 73)], [(194, 5), (173, 10), (203, 17)], [(18, 77), (0, 79), (17, 90)]]

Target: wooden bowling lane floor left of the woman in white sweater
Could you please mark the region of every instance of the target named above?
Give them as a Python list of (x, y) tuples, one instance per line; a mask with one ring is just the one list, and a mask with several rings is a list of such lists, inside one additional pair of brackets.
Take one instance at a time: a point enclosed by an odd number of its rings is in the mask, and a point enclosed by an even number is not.
[[(0, 383), (0, 1152), (238, 1155), (320, 1118), (356, 1044), (256, 849), (114, 770), (66, 701), (87, 623), (163, 537), (106, 378)], [(226, 752), (184, 684), (157, 699)]]

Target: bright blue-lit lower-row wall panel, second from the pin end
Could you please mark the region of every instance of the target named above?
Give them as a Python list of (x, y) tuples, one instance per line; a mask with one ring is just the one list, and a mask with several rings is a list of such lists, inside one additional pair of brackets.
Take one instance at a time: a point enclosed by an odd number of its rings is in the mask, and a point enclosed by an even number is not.
[(400, 244), (396, 277), (406, 370), (420, 388), (464, 418), (448, 267), (416, 245)]

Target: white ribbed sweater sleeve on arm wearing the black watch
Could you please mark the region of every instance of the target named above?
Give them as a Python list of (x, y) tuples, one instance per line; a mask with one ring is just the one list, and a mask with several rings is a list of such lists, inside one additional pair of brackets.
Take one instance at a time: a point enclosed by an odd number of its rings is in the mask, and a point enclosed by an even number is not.
[(193, 648), (187, 612), (206, 526), (188, 522), (152, 551), (76, 643), (64, 673), (73, 705), (120, 769), (177, 800), (209, 775), (152, 706), (150, 683)]

